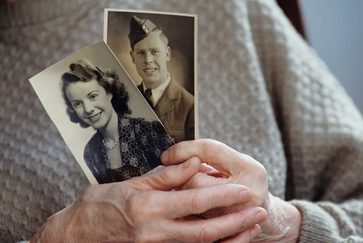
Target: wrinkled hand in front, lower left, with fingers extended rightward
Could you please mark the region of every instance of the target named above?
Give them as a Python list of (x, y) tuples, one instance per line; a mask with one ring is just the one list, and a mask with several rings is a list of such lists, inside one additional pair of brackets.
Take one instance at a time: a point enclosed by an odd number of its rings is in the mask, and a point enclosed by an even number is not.
[(246, 187), (169, 191), (190, 180), (200, 167), (200, 159), (191, 157), (151, 175), (90, 186), (48, 218), (31, 242), (211, 242), (229, 235), (234, 237), (223, 242), (251, 241), (260, 232), (257, 223), (267, 217), (262, 208), (211, 219), (189, 216), (248, 202)]

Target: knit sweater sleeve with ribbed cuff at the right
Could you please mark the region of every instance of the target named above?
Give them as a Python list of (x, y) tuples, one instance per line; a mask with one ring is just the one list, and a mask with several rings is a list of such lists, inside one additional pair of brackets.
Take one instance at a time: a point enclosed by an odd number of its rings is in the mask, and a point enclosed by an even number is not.
[(301, 242), (363, 241), (363, 119), (274, 1), (249, 4), (254, 44), (287, 159)]

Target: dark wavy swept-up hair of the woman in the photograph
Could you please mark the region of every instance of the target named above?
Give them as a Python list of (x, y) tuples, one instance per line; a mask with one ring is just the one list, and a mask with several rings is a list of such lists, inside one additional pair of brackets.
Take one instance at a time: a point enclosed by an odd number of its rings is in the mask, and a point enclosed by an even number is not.
[(101, 70), (86, 59), (78, 60), (71, 63), (70, 71), (62, 75), (62, 95), (67, 105), (67, 114), (74, 123), (79, 123), (81, 127), (89, 127), (87, 123), (82, 121), (73, 109), (71, 101), (68, 99), (66, 89), (69, 84), (76, 82), (89, 82), (97, 80), (98, 84), (105, 89), (107, 94), (112, 94), (111, 104), (117, 114), (131, 114), (128, 102), (129, 94), (125, 85), (120, 82), (115, 70)]

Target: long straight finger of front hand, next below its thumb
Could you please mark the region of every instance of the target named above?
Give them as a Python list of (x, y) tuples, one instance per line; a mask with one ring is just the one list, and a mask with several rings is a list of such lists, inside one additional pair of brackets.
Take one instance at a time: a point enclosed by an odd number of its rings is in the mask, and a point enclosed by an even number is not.
[(159, 211), (164, 217), (170, 219), (200, 214), (212, 208), (247, 203), (250, 200), (250, 190), (235, 184), (160, 192), (159, 195), (153, 194), (152, 197), (153, 210)]

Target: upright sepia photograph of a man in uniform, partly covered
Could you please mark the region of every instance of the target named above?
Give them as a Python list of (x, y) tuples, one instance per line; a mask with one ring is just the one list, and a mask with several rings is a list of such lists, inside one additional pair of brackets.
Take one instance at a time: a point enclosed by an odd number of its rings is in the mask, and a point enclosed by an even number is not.
[(198, 138), (197, 16), (105, 9), (103, 33), (174, 142)]

